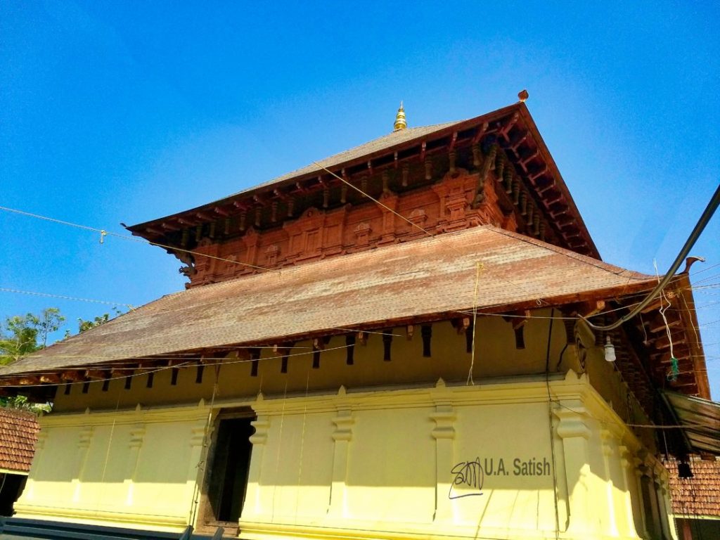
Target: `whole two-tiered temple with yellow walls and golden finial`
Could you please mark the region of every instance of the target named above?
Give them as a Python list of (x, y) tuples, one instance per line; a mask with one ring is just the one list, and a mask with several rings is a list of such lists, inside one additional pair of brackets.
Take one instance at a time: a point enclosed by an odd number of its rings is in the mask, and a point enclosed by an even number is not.
[(660, 457), (720, 451), (692, 261), (598, 330), (657, 277), (600, 259), (520, 97), (428, 127), (400, 107), (376, 140), (129, 227), (186, 290), (0, 370), (53, 402), (6, 523), (677, 539)]

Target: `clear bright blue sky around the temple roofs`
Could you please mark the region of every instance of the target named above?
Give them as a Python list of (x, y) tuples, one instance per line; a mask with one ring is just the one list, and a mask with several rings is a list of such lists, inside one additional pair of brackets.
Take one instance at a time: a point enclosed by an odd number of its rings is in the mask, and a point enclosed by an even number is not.
[[(716, 2), (0, 3), (0, 205), (122, 232), (411, 126), (528, 107), (603, 259), (670, 265), (720, 179)], [(0, 287), (142, 305), (159, 248), (0, 212)], [(693, 280), (720, 283), (720, 215)], [(702, 280), (702, 281), (701, 281)], [(720, 397), (720, 288), (696, 291)], [(0, 316), (109, 306), (0, 292)]]

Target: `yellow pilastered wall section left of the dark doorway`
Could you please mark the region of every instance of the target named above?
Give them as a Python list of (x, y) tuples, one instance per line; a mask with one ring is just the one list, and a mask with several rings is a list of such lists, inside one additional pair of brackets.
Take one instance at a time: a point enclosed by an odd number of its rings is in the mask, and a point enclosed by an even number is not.
[(48, 415), (17, 516), (185, 526), (209, 409)]

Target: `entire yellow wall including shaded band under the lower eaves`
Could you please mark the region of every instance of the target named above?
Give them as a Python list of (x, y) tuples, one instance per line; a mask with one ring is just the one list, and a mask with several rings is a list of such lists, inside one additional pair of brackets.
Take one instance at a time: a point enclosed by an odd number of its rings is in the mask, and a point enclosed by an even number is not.
[[(478, 318), (474, 385), (464, 334), (436, 323), (431, 358), (416, 326), (412, 339), (393, 329), (391, 361), (371, 334), (348, 366), (335, 336), (320, 369), (304, 341), (287, 374), (267, 348), (258, 377), (249, 362), (223, 364), (216, 387), (206, 366), (202, 384), (192, 367), (177, 385), (165, 370), (152, 388), (141, 375), (130, 390), (122, 380), (105, 392), (101, 383), (61, 389), (40, 420), (17, 514), (173, 531), (197, 515), (202, 525), (207, 513), (193, 501), (202, 500), (211, 409), (215, 418), (249, 407), (243, 538), (554, 538), (556, 521), (566, 539), (671, 537), (664, 469), (652, 435), (625, 426), (626, 387), (601, 347), (588, 348), (587, 374), (575, 375), (580, 351), (557, 321), (547, 361), (550, 314), (528, 320), (524, 349), (508, 322)], [(516, 459), (543, 474), (516, 474)], [(479, 469), (482, 489), (454, 485)]]

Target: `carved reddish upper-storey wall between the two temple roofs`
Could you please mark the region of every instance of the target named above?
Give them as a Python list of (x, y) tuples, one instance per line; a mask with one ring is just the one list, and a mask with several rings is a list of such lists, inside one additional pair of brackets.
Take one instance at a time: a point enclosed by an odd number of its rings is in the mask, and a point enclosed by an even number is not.
[[(503, 209), (498, 194), (498, 190), (504, 191), (501, 180), (494, 171), (453, 168), (430, 186), (402, 194), (386, 189), (379, 196), (382, 204), (368, 201), (331, 210), (310, 207), (276, 228), (250, 227), (239, 238), (222, 244), (204, 239), (197, 252), (226, 260), (196, 256), (194, 268), (184, 273), (192, 286), (477, 225), (514, 231), (520, 208), (513, 209), (506, 200)], [(503, 197), (508, 199), (505, 194)]]

